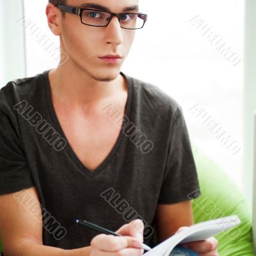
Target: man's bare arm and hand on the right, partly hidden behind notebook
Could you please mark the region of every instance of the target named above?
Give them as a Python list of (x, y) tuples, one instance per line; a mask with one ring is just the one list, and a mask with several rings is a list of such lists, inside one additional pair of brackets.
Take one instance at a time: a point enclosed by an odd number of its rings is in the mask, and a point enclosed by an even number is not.
[[(162, 242), (164, 239), (175, 234), (180, 227), (193, 224), (193, 209), (190, 201), (184, 201), (177, 204), (157, 205), (156, 228), (159, 242)], [(218, 241), (214, 237), (205, 241), (186, 243), (186, 246), (202, 256), (218, 255)]]

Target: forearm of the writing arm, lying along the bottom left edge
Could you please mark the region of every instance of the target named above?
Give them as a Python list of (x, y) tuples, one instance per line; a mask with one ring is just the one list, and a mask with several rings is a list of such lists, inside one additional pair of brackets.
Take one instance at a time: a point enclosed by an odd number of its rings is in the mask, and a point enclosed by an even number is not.
[(32, 241), (22, 241), (8, 252), (4, 252), (4, 256), (89, 256), (91, 246), (74, 249), (63, 250), (52, 246), (45, 246)]

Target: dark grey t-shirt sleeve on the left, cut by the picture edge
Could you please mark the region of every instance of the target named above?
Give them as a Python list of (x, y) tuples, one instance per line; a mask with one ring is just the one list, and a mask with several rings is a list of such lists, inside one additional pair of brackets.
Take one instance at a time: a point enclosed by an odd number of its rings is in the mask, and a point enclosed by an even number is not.
[(15, 125), (0, 109), (0, 195), (32, 186), (33, 180)]

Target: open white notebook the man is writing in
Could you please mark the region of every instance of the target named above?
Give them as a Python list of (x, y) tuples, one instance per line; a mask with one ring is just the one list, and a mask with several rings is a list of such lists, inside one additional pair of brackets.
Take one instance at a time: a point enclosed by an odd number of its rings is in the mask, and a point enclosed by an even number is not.
[(143, 255), (169, 256), (177, 244), (205, 240), (222, 231), (226, 231), (239, 223), (241, 223), (241, 221), (236, 215), (204, 221), (185, 228), (179, 233), (164, 240), (162, 243), (158, 244), (152, 248), (152, 250), (144, 253)]

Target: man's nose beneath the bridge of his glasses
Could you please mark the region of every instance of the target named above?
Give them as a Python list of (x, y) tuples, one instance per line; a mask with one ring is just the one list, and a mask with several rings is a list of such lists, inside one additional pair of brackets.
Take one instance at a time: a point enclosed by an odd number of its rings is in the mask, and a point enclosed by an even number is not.
[(112, 17), (106, 28), (105, 40), (108, 44), (119, 45), (124, 42), (122, 28), (120, 27), (120, 22), (118, 17)]

